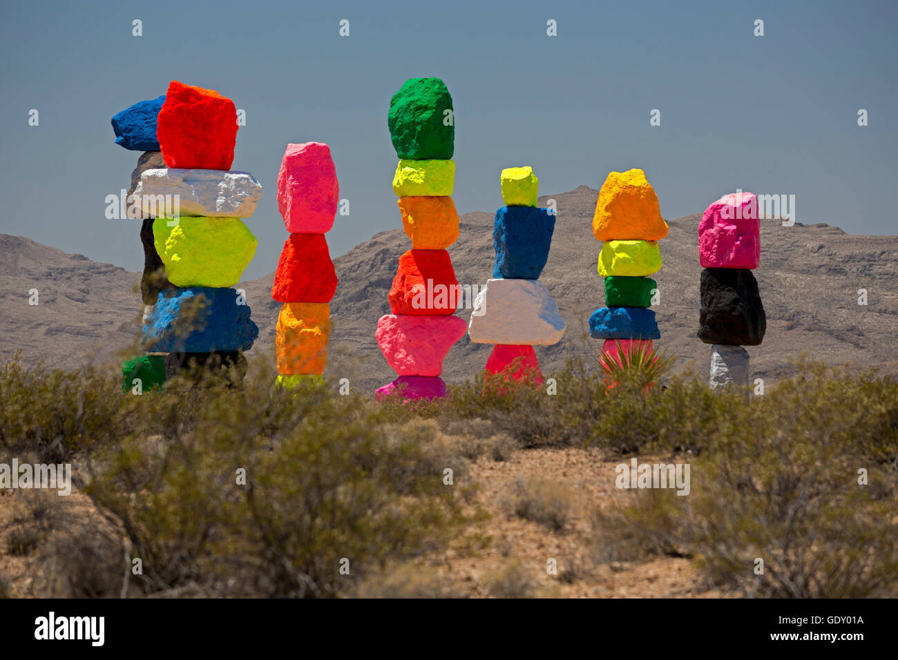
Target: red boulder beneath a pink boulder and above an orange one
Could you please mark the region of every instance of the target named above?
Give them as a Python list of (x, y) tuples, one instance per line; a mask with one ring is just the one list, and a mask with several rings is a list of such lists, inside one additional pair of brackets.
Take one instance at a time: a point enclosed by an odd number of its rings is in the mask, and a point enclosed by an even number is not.
[(277, 261), (271, 297), (278, 303), (330, 303), (337, 272), (323, 233), (291, 233)]

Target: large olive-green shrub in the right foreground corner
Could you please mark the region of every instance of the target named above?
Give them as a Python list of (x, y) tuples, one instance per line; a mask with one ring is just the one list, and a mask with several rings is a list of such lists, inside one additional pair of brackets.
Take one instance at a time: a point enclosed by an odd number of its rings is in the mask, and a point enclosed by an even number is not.
[(597, 514), (596, 535), (617, 528), (633, 555), (689, 553), (710, 582), (747, 595), (894, 595), (898, 383), (799, 369), (750, 402), (724, 395), (708, 402), (713, 414), (682, 409), (695, 432), (707, 427), (691, 494), (640, 493)]

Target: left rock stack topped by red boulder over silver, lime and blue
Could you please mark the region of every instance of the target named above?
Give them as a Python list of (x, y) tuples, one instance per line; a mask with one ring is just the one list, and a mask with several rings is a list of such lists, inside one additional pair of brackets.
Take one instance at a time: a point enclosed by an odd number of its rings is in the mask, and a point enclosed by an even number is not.
[(251, 174), (230, 171), (236, 135), (233, 101), (172, 81), (156, 119), (165, 166), (145, 169), (135, 190), (155, 216), (154, 248), (173, 286), (145, 313), (142, 343), (168, 354), (169, 377), (193, 365), (242, 370), (242, 351), (259, 334), (232, 288), (256, 251), (240, 218), (252, 216), (262, 194)]

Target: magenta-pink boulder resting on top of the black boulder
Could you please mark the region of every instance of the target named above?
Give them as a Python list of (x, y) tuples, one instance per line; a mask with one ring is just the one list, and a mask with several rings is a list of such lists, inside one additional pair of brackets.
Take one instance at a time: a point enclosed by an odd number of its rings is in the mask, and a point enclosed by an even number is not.
[(761, 223), (753, 193), (731, 193), (705, 209), (699, 224), (699, 260), (702, 268), (758, 268)]

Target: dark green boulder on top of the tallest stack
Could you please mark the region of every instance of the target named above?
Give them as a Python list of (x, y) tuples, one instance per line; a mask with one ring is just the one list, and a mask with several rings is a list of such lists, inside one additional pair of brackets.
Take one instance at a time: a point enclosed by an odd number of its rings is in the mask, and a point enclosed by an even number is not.
[(401, 159), (449, 160), (455, 118), (452, 96), (439, 78), (409, 78), (390, 100), (390, 139)]

